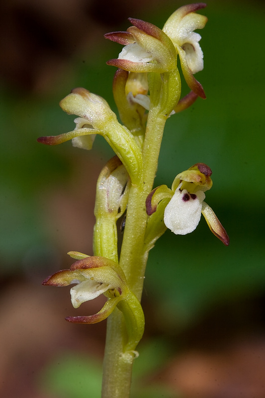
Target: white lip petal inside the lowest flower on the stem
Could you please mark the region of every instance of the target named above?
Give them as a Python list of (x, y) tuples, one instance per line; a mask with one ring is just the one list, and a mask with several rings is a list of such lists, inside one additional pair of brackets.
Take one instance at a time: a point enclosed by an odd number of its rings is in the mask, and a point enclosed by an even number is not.
[(102, 293), (105, 293), (110, 288), (110, 285), (90, 279), (81, 282), (70, 290), (73, 307), (78, 308), (82, 302), (92, 300)]

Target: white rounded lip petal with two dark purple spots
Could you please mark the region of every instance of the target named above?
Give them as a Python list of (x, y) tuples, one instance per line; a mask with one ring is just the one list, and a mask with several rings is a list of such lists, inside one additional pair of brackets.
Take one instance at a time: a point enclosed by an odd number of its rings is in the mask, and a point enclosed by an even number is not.
[(176, 190), (165, 208), (164, 222), (176, 235), (185, 235), (194, 231), (201, 216), (202, 201), (205, 195), (202, 191), (188, 194), (187, 190)]

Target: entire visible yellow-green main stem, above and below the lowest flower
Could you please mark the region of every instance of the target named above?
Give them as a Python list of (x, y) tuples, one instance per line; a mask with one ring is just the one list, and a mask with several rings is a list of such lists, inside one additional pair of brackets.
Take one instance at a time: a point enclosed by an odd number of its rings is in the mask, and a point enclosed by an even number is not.
[[(144, 174), (139, 184), (130, 189), (126, 225), (120, 255), (128, 285), (140, 300), (148, 252), (144, 248), (146, 230), (145, 200), (152, 190), (167, 117), (157, 108), (149, 111), (143, 147)], [(105, 356), (103, 362), (102, 398), (127, 398), (130, 396), (131, 372), (134, 360), (132, 351), (124, 353), (125, 323), (116, 309), (108, 317)]]

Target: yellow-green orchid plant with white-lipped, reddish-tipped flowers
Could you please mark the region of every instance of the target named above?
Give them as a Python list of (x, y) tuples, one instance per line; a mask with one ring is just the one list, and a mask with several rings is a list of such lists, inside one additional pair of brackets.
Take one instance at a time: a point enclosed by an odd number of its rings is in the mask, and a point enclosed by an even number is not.
[[(184, 5), (167, 20), (163, 29), (129, 18), (126, 32), (105, 37), (122, 44), (118, 58), (107, 62), (118, 68), (113, 95), (121, 123), (108, 103), (84, 88), (72, 90), (60, 102), (68, 114), (77, 115), (76, 128), (57, 136), (40, 137), (39, 142), (56, 145), (72, 140), (74, 146), (90, 150), (96, 134), (109, 143), (115, 156), (101, 171), (96, 187), (93, 255), (68, 254), (76, 260), (69, 270), (59, 271), (43, 284), (71, 288), (74, 308), (103, 294), (106, 302), (94, 315), (69, 316), (75, 323), (96, 323), (106, 317), (107, 336), (103, 362), (103, 398), (130, 395), (132, 365), (137, 344), (144, 332), (140, 304), (148, 253), (169, 228), (177, 234), (192, 232), (201, 217), (225, 244), (229, 238), (205, 202), (212, 187), (211, 169), (196, 163), (179, 174), (172, 188), (153, 189), (158, 157), (167, 119), (205, 98), (194, 74), (203, 69), (199, 45), (207, 18), (196, 13), (204, 3)], [(178, 68), (190, 88), (180, 99)], [(121, 218), (123, 238), (118, 251), (117, 220)]]

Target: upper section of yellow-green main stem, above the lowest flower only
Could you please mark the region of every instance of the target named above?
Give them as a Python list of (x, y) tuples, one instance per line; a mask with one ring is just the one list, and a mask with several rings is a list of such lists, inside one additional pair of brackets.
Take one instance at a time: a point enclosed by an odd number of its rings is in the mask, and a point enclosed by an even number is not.
[(120, 266), (130, 289), (139, 300), (142, 296), (148, 258), (144, 247), (147, 221), (145, 201), (154, 184), (166, 119), (165, 116), (158, 114), (157, 108), (149, 111), (143, 148), (143, 181), (137, 186), (132, 185), (127, 207)]

